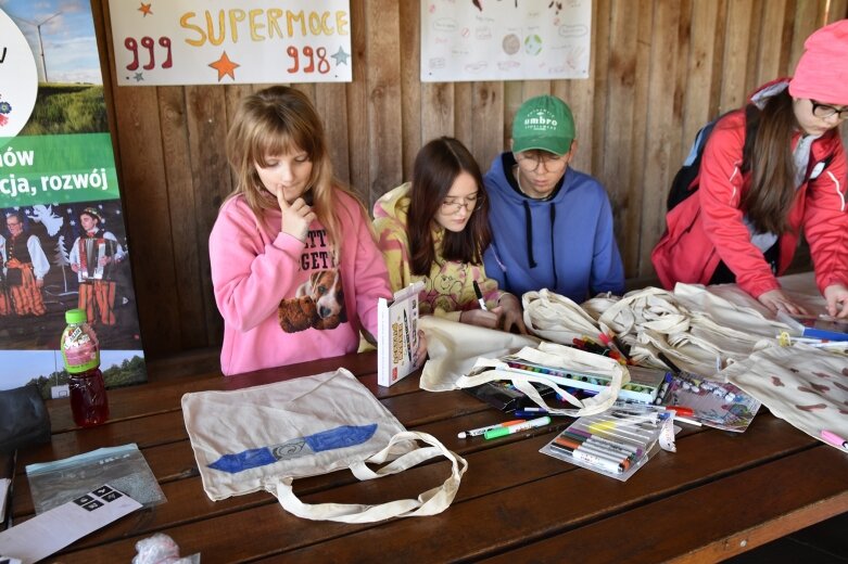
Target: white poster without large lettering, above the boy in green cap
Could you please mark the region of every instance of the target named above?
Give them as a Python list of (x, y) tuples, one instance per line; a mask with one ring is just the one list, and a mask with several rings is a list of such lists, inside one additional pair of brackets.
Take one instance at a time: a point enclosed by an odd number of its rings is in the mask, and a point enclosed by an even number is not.
[(592, 0), (421, 0), (421, 81), (587, 78)]

